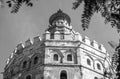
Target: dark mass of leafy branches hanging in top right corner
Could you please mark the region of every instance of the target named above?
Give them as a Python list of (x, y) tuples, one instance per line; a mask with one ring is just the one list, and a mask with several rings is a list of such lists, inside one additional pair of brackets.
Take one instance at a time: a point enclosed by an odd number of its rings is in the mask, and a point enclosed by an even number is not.
[(76, 0), (73, 9), (77, 9), (81, 3), (84, 3), (81, 17), (83, 30), (88, 28), (94, 13), (100, 12), (105, 18), (105, 23), (110, 22), (112, 27), (115, 26), (118, 32), (120, 31), (120, 0)]

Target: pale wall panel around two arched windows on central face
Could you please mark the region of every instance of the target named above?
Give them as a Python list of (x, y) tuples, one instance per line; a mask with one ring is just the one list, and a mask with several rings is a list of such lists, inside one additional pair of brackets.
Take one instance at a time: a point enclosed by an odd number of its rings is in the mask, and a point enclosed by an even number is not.
[[(54, 50), (57, 50), (57, 51), (54, 51)], [(73, 56), (72, 52), (69, 52), (67, 50), (69, 50), (69, 48), (65, 48), (65, 49), (55, 48), (55, 47), (54, 48), (52, 48), (52, 47), (46, 48), (45, 49), (45, 64), (57, 64), (57, 65), (72, 64), (73, 65), (74, 64), (74, 56)], [(60, 52), (63, 55), (63, 58), (61, 57), (61, 55), (58, 52)], [(54, 54), (58, 55), (58, 61), (54, 60), (54, 58), (53, 58)], [(72, 55), (72, 61), (67, 60), (68, 54)], [(62, 58), (62, 63), (60, 61), (61, 58)]]

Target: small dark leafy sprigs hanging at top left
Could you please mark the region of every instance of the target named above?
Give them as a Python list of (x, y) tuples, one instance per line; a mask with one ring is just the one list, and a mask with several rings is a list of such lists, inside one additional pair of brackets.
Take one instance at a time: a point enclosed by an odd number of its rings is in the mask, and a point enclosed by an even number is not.
[(30, 7), (33, 6), (32, 0), (7, 0), (6, 3), (11, 8), (11, 13), (17, 13), (23, 4)]

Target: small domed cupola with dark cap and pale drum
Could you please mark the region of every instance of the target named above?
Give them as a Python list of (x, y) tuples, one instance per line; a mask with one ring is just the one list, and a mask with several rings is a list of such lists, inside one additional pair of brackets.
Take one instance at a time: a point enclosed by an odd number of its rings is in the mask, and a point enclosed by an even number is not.
[(48, 31), (50, 33), (55, 33), (56, 31), (59, 31), (60, 33), (65, 33), (70, 31), (71, 26), (71, 19), (70, 17), (64, 13), (61, 9), (59, 9), (56, 13), (54, 13), (49, 18), (49, 27)]

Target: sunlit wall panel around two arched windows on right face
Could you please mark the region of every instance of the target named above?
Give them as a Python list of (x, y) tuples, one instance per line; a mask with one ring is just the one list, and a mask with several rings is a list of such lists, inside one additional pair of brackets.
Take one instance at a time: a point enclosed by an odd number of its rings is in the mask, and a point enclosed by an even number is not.
[[(80, 50), (80, 60), (82, 66), (87, 67), (93, 71), (103, 74), (104, 73), (104, 59), (96, 56), (95, 54), (92, 55), (88, 51), (83, 49)], [(91, 65), (87, 64), (87, 59), (91, 61)], [(97, 63), (100, 64), (100, 70), (97, 68)]]

